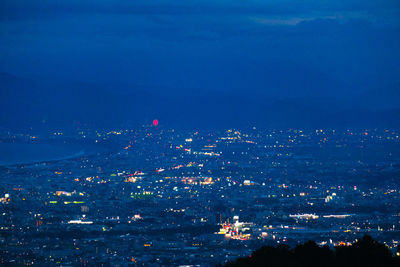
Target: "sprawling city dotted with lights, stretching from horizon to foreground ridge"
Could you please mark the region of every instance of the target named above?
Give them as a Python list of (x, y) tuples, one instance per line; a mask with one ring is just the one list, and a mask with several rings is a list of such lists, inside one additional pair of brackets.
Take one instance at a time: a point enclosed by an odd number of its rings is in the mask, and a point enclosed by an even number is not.
[[(400, 242), (400, 132), (1, 132), (77, 147), (0, 166), (0, 264), (226, 264), (264, 245)], [(72, 154), (71, 154), (72, 155)]]

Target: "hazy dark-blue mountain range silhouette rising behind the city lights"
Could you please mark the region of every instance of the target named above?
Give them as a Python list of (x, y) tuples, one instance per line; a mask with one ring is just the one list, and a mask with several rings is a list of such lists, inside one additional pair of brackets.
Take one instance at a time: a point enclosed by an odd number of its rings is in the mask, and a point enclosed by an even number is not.
[(76, 123), (134, 127), (153, 118), (162, 125), (182, 128), (400, 125), (396, 106), (363, 107), (333, 98), (282, 98), (245, 91), (192, 93), (168, 88), (155, 93), (157, 90), (142, 86), (23, 79), (6, 73), (0, 73), (0, 84), (0, 125), (8, 128), (70, 127)]

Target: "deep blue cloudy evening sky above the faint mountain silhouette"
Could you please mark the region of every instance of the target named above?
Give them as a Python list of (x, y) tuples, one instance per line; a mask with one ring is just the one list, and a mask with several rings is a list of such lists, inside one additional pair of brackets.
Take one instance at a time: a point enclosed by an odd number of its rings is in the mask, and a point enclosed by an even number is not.
[(398, 1), (0, 5), (0, 72), (17, 77), (157, 95), (329, 98), (356, 105), (362, 95), (371, 94), (366, 105), (375, 104), (377, 92), (392, 100), (398, 95)]

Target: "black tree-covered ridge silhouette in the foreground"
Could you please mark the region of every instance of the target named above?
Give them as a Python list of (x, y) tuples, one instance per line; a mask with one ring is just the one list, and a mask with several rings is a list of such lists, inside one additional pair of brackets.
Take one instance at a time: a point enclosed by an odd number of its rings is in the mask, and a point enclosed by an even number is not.
[(351, 246), (338, 246), (333, 250), (327, 245), (320, 247), (314, 241), (308, 241), (294, 249), (286, 245), (264, 246), (254, 251), (249, 257), (239, 258), (224, 266), (385, 267), (400, 266), (400, 257), (393, 256), (386, 245), (366, 235)]

